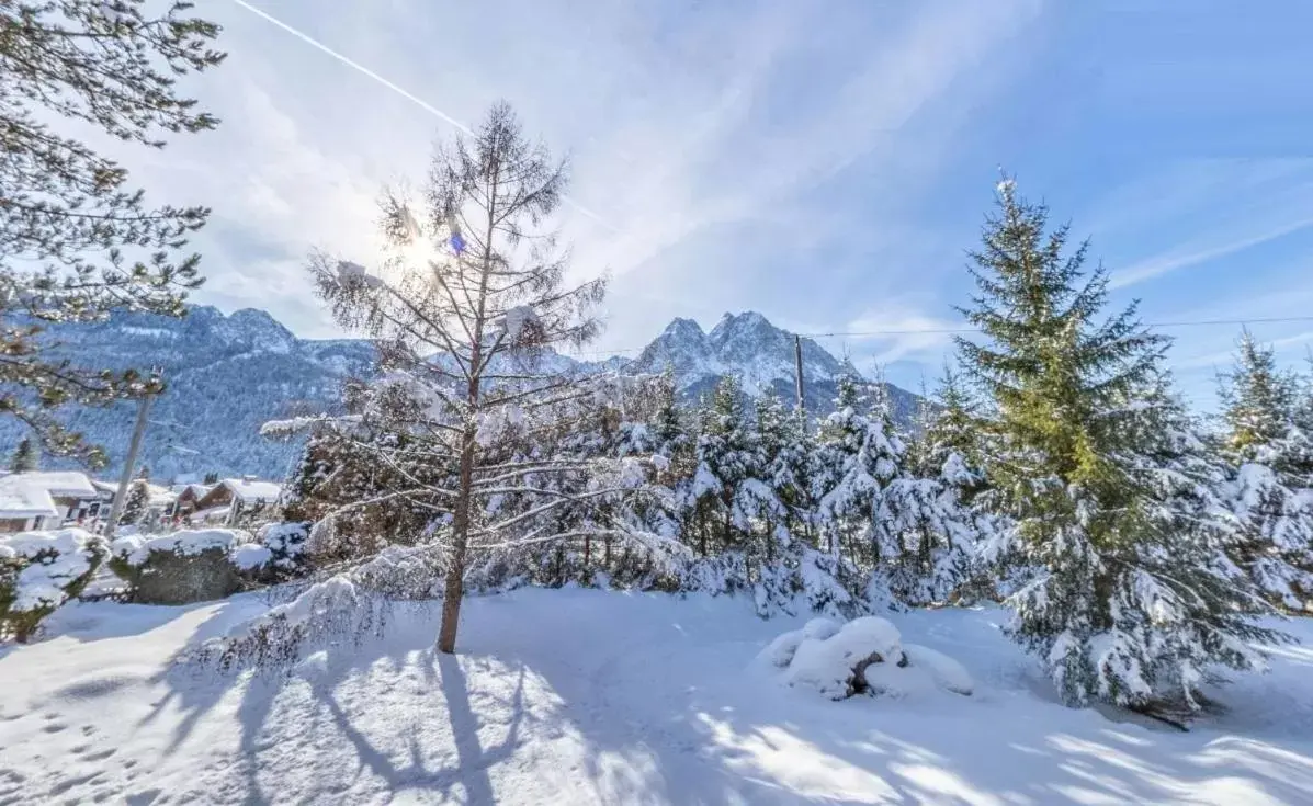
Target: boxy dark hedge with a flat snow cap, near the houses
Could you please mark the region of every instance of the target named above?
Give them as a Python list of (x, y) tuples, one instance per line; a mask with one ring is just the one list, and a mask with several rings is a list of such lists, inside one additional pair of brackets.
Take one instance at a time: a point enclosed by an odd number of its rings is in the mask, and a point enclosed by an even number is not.
[(110, 568), (142, 604), (189, 604), (223, 599), (253, 582), (272, 551), (240, 529), (184, 529), (159, 537), (121, 537)]

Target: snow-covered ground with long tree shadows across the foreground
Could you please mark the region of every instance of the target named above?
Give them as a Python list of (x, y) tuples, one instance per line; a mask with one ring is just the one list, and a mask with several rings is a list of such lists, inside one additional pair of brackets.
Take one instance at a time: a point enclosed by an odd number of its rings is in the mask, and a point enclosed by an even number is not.
[(731, 599), (524, 589), (437, 605), (291, 675), (171, 668), (260, 596), (67, 606), (0, 648), (3, 803), (1309, 803), (1313, 622), (1180, 734), (1053, 701), (1001, 610), (893, 616), (972, 697), (831, 702), (754, 656), (797, 621)]

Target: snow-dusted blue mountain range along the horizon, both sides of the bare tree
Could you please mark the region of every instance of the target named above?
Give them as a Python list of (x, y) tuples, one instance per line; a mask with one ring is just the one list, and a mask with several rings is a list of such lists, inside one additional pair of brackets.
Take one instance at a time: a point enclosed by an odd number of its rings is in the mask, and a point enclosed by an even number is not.
[[(168, 391), (151, 411), (142, 448), (143, 463), (156, 479), (184, 474), (257, 474), (280, 478), (297, 445), (259, 435), (270, 419), (334, 411), (341, 381), (368, 375), (374, 349), (368, 341), (298, 339), (268, 312), (246, 308), (230, 315), (194, 306), (185, 319), (125, 314), (108, 322), (55, 326), (49, 336), (81, 366), (161, 366)], [(743, 379), (751, 396), (773, 391), (794, 395), (793, 335), (758, 312), (726, 314), (712, 331), (691, 319), (675, 319), (633, 361), (575, 361), (554, 356), (554, 370), (659, 373), (674, 366), (684, 399), (693, 400), (727, 373)], [(810, 339), (802, 340), (802, 377), (809, 411), (827, 412), (835, 381), (856, 373)], [(910, 423), (916, 395), (889, 386), (894, 416)], [(70, 412), (68, 423), (122, 461), (135, 406)], [(7, 457), (24, 433), (13, 417), (0, 417), (0, 450)], [(55, 462), (50, 462), (55, 465)], [(110, 467), (109, 473), (117, 473)]]

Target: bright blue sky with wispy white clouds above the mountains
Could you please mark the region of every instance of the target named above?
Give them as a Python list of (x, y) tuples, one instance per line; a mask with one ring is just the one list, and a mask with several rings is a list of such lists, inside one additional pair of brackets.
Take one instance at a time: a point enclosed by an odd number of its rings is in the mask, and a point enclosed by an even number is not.
[[(674, 316), (758, 310), (802, 332), (958, 320), (999, 165), (1090, 236), (1149, 322), (1313, 315), (1313, 4), (1039, 0), (234, 0), (228, 62), (188, 85), (214, 133), (125, 154), (158, 198), (214, 207), (198, 294), (335, 335), (311, 247), (368, 263), (383, 182), (450, 119), (509, 100), (574, 167), (574, 270), (609, 270), (597, 352)], [(1302, 361), (1313, 322), (1250, 329)], [(1213, 400), (1233, 327), (1171, 328)], [(947, 337), (822, 343), (915, 389)]]

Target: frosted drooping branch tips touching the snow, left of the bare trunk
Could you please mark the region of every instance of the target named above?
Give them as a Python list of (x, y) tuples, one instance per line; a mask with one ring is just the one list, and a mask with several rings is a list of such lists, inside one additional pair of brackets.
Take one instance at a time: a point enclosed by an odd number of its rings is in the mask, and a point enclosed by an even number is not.
[(223, 671), (286, 667), (307, 646), (378, 634), (386, 617), (385, 597), (337, 575), (310, 585), (288, 604), (235, 625), (226, 635), (206, 641), (185, 659)]

